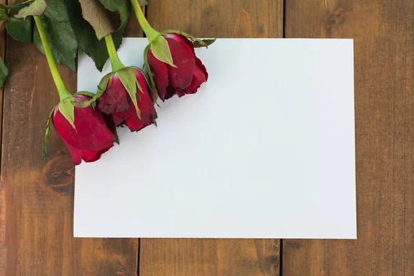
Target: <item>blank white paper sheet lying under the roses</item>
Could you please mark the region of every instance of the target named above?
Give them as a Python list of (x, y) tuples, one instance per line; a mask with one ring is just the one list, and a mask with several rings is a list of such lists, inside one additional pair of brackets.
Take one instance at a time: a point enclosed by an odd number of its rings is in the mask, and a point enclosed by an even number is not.
[[(119, 57), (143, 65), (146, 39)], [(217, 39), (210, 78), (75, 177), (75, 237), (356, 238), (352, 39)], [(110, 72), (79, 58), (78, 90)]]

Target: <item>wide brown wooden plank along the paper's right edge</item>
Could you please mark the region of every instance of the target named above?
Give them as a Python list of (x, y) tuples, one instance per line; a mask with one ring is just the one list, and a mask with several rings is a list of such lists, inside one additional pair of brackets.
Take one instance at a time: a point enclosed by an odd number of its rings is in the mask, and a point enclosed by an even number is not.
[(285, 5), (286, 37), (355, 39), (358, 237), (284, 240), (283, 275), (413, 275), (414, 2)]

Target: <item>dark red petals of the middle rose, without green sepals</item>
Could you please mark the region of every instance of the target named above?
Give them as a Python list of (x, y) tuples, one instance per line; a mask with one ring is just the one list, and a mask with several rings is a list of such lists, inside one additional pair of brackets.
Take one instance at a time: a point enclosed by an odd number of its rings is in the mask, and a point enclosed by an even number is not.
[(134, 72), (142, 88), (142, 92), (137, 88), (139, 96), (137, 97), (137, 107), (141, 119), (139, 119), (135, 105), (116, 72), (110, 77), (106, 90), (97, 100), (97, 106), (101, 112), (112, 116), (115, 126), (126, 124), (131, 131), (138, 131), (154, 124), (157, 112), (148, 92), (144, 75), (137, 69), (134, 69)]

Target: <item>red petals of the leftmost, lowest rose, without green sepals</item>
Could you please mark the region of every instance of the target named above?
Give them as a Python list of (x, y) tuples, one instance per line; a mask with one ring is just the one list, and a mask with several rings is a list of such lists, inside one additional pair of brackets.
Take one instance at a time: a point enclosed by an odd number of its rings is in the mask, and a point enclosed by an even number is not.
[[(75, 102), (86, 101), (89, 98), (84, 95), (75, 95)], [(73, 164), (81, 164), (81, 159), (86, 162), (97, 161), (103, 152), (108, 151), (115, 142), (115, 136), (108, 128), (106, 120), (99, 110), (91, 106), (86, 108), (74, 108), (74, 124), (59, 112), (56, 107), (52, 115), (53, 125), (61, 139), (65, 142)], [(109, 126), (112, 128), (112, 126)], [(113, 129), (113, 128), (112, 128)]]

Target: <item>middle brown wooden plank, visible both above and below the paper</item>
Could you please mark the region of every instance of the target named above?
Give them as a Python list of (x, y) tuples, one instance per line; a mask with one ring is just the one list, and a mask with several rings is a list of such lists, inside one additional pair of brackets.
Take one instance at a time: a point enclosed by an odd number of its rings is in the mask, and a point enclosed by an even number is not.
[[(282, 0), (152, 0), (146, 8), (157, 30), (282, 37)], [(279, 239), (141, 239), (139, 256), (140, 276), (279, 275)]]

